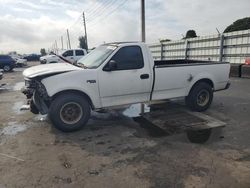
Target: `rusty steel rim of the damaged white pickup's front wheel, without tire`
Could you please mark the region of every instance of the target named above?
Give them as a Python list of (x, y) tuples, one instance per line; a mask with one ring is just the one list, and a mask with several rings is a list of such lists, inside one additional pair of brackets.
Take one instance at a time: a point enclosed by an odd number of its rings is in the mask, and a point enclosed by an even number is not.
[(83, 116), (83, 109), (76, 102), (68, 102), (64, 104), (60, 110), (61, 120), (69, 125), (77, 123), (82, 116)]

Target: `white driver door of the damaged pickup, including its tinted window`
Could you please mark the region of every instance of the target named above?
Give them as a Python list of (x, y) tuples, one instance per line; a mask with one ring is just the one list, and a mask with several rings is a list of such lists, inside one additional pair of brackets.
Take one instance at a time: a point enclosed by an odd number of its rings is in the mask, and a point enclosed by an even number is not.
[[(116, 63), (113, 70), (106, 69), (109, 62)], [(99, 75), (99, 90), (103, 107), (132, 104), (149, 100), (150, 70), (144, 64), (139, 46), (120, 48)]]

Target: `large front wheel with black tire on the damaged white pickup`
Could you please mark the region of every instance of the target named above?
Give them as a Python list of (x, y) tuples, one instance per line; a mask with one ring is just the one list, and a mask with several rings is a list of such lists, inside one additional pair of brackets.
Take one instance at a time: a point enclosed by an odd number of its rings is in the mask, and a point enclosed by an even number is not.
[(87, 124), (90, 111), (90, 104), (85, 97), (75, 93), (65, 93), (52, 101), (49, 117), (57, 129), (73, 132)]

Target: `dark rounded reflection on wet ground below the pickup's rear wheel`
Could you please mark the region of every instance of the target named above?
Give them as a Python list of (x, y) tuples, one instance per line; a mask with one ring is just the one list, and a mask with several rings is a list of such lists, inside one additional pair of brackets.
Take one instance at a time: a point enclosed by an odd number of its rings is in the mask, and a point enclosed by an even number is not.
[(203, 144), (207, 142), (211, 135), (211, 129), (187, 131), (188, 140), (192, 143)]

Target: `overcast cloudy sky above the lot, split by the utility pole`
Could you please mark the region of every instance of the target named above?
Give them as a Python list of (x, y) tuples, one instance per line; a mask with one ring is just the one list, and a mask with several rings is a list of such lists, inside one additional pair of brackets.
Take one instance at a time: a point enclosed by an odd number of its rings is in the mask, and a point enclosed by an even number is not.
[[(223, 31), (249, 16), (250, 0), (145, 0), (146, 39), (180, 39), (187, 30), (199, 36)], [(39, 52), (51, 48), (69, 28), (72, 48), (84, 34), (85, 11), (89, 46), (140, 40), (140, 0), (0, 0), (0, 53)]]

